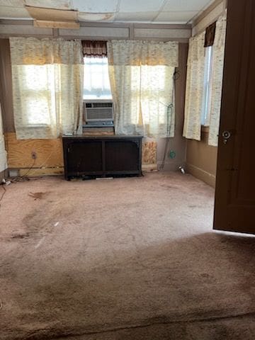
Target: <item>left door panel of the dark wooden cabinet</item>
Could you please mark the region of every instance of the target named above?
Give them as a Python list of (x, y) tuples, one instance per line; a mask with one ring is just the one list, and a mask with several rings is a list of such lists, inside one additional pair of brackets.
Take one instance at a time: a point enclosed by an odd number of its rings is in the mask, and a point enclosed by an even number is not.
[(67, 147), (67, 171), (69, 174), (93, 174), (103, 171), (101, 141), (71, 142)]

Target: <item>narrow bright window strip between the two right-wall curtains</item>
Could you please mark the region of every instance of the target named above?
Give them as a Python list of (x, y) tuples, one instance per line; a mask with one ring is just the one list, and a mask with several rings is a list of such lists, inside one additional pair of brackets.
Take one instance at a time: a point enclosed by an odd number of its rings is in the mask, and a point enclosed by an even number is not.
[(209, 126), (212, 101), (212, 46), (205, 47), (204, 91), (201, 111), (201, 125)]

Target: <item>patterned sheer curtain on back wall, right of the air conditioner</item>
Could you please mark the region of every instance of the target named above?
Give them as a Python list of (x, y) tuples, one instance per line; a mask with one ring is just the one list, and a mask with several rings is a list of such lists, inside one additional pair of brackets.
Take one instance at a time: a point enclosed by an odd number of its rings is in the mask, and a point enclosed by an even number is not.
[(107, 51), (115, 133), (174, 137), (178, 43), (112, 40)]

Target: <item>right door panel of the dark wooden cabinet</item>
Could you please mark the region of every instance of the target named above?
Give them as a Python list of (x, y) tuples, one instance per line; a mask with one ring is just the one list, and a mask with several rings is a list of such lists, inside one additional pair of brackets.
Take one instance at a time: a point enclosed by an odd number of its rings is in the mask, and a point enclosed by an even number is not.
[(106, 141), (106, 171), (139, 171), (139, 142)]

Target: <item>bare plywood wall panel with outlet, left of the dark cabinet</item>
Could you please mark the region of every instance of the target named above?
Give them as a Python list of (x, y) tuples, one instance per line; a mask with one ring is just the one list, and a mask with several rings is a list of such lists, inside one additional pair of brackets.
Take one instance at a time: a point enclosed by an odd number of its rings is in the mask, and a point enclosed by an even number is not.
[[(16, 140), (14, 132), (6, 133), (8, 168), (63, 166), (62, 140)], [(36, 153), (35, 163), (31, 153)]]

